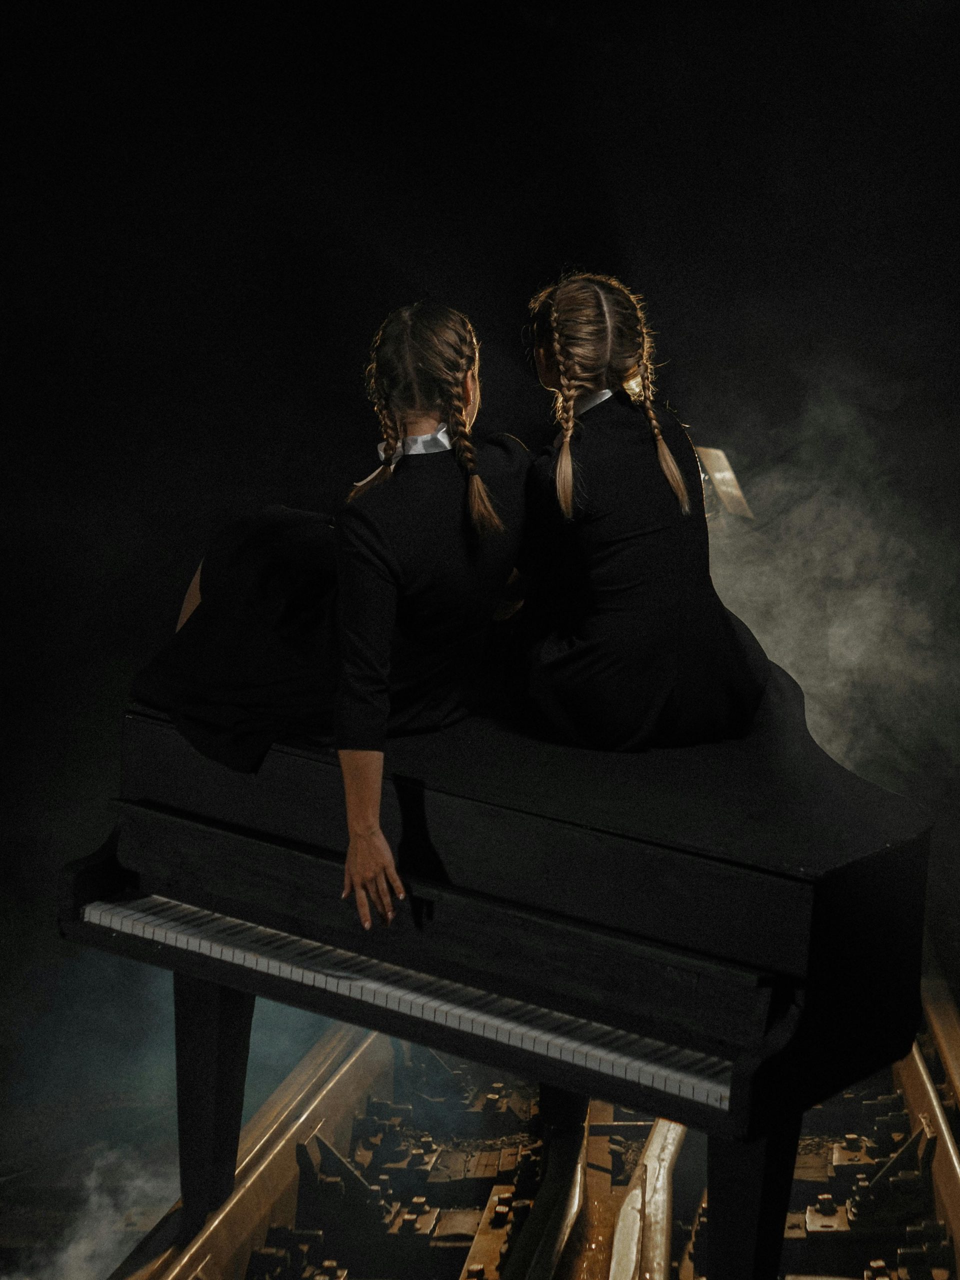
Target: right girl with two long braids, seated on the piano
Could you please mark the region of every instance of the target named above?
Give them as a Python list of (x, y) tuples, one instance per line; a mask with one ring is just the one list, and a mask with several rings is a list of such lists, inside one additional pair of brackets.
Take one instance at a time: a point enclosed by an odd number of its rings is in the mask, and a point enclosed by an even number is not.
[(530, 303), (559, 434), (530, 471), (530, 691), (570, 741), (616, 750), (744, 735), (765, 655), (710, 580), (700, 468), (654, 399), (641, 298), (576, 273)]

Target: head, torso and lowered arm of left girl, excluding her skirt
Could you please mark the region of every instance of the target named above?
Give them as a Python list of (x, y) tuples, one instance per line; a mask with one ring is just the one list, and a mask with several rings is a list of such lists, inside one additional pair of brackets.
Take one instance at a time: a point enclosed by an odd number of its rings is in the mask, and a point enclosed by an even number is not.
[(394, 311), (374, 339), (381, 465), (353, 488), (338, 556), (344, 897), (367, 927), (367, 896), (389, 919), (399, 884), (379, 824), (384, 737), (466, 713), (520, 552), (529, 454), (511, 435), (474, 444), (477, 370), (470, 321), (436, 303)]

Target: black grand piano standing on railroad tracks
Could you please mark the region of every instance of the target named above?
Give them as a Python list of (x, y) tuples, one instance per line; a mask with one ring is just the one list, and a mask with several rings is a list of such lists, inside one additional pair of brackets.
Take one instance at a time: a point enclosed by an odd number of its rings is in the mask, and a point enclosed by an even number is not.
[(919, 1023), (928, 817), (820, 751), (780, 668), (742, 741), (394, 740), (408, 895), (369, 933), (333, 751), (239, 774), (133, 707), (119, 808), (61, 929), (173, 970), (192, 1229), (233, 1189), (257, 995), (705, 1130), (709, 1280), (776, 1276), (801, 1112)]

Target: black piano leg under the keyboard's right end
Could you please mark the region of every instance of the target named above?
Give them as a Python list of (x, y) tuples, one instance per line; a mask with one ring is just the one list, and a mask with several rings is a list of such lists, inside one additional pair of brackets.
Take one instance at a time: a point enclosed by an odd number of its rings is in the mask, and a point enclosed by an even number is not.
[(753, 1142), (708, 1139), (708, 1280), (776, 1280), (801, 1119), (786, 1112)]

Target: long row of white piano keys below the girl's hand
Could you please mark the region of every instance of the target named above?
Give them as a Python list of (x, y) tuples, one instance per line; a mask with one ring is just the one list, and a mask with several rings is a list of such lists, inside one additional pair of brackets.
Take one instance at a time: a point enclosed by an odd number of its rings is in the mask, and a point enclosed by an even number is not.
[(732, 1064), (694, 1050), (507, 1000), (479, 987), (431, 978), (156, 895), (124, 904), (90, 902), (83, 919), (100, 928), (197, 951), (214, 960), (730, 1110)]

